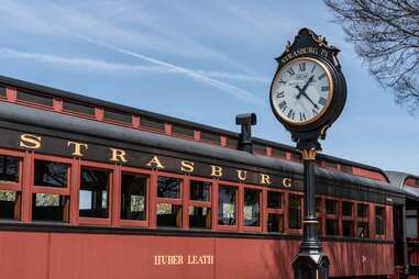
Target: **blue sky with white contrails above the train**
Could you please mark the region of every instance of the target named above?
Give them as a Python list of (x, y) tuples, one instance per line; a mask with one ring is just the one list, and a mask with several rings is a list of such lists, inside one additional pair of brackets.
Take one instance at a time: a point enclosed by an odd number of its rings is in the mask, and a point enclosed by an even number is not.
[(268, 104), (273, 59), (308, 26), (341, 48), (348, 101), (327, 154), (419, 175), (418, 116), (377, 86), (322, 1), (14, 1), (0, 75), (294, 145)]

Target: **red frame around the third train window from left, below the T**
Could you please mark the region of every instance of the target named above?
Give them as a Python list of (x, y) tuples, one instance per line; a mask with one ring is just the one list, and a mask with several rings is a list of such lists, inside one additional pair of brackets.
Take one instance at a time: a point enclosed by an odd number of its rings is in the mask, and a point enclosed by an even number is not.
[[(89, 168), (96, 170), (108, 171), (108, 191), (107, 191), (107, 207), (108, 207), (108, 216), (107, 217), (93, 217), (93, 216), (81, 216), (80, 215), (80, 186), (81, 186), (81, 169)], [(111, 225), (111, 216), (113, 212), (113, 187), (114, 187), (114, 176), (115, 176), (115, 166), (103, 164), (103, 163), (93, 163), (80, 160), (80, 167), (78, 169), (78, 185), (77, 194), (78, 194), (78, 203), (77, 203), (77, 213), (78, 213), (78, 222), (80, 224), (92, 224), (92, 225)]]

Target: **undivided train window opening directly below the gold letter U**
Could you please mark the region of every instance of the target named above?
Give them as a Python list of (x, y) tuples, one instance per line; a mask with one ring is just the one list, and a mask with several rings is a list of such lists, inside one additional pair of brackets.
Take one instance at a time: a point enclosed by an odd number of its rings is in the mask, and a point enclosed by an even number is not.
[(261, 191), (256, 189), (244, 189), (244, 225), (261, 226)]

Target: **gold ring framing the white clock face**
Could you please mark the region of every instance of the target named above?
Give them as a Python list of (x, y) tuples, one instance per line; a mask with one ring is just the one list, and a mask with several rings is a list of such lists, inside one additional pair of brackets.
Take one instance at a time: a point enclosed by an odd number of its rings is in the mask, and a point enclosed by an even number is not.
[[(305, 122), (291, 122), (289, 121), (288, 119), (285, 119), (283, 118), (283, 115), (280, 115), (279, 113), (279, 108), (278, 108), (278, 104), (277, 102), (274, 100), (274, 91), (275, 89), (277, 88), (277, 79), (279, 78), (280, 76), (280, 72), (283, 71), (284, 68), (286, 68), (289, 64), (294, 64), (296, 62), (299, 62), (299, 60), (311, 60), (313, 63), (317, 63), (318, 65), (320, 65), (320, 67), (323, 68), (328, 79), (329, 79), (329, 85), (330, 85), (330, 90), (328, 92), (328, 102), (326, 103), (323, 110), (317, 114), (315, 118), (310, 119), (309, 121), (305, 121)], [(330, 72), (330, 69), (328, 68), (328, 66), (321, 62), (320, 59), (317, 59), (317, 58), (313, 58), (313, 57), (308, 57), (308, 56), (305, 56), (305, 57), (298, 57), (296, 59), (293, 59), (290, 62), (288, 62), (287, 64), (285, 64), (280, 70), (278, 70), (274, 77), (274, 80), (272, 82), (272, 88), (271, 88), (271, 102), (274, 104), (274, 108), (276, 110), (276, 114), (283, 120), (285, 121), (286, 123), (288, 123), (289, 125), (296, 125), (296, 126), (304, 126), (304, 125), (308, 125), (308, 124), (311, 124), (311, 123), (315, 123), (317, 120), (321, 119), (321, 116), (324, 115), (324, 113), (329, 110), (329, 107), (332, 102), (332, 99), (333, 99), (333, 93), (334, 93), (334, 83), (333, 83), (333, 79), (332, 79), (332, 75)]]

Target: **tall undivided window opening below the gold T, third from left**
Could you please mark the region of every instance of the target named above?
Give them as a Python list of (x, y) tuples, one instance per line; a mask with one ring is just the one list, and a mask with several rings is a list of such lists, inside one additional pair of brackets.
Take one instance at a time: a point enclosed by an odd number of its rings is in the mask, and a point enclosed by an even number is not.
[(109, 216), (110, 171), (82, 167), (80, 172), (79, 215), (85, 217)]

